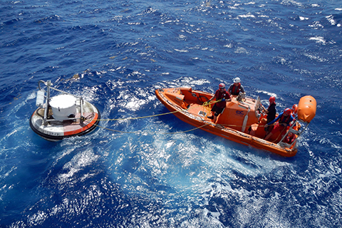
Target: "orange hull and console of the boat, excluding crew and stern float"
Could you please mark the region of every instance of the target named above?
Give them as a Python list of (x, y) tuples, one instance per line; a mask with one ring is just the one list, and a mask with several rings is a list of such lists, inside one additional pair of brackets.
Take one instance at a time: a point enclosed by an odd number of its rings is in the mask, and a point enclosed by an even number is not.
[[(256, 103), (254, 99), (239, 102), (233, 96), (232, 101), (227, 103), (224, 112), (217, 118), (217, 123), (212, 123), (212, 120), (207, 118), (210, 107), (203, 110), (202, 105), (212, 97), (212, 94), (192, 88), (163, 88), (155, 90), (155, 94), (170, 112), (175, 112), (173, 114), (177, 118), (197, 128), (200, 127), (201, 130), (281, 156), (296, 155), (296, 146), (281, 147), (277, 142), (262, 139), (265, 135), (264, 124), (262, 124), (262, 116), (258, 117), (258, 111), (254, 109), (255, 106), (253, 107)], [(248, 113), (247, 106), (249, 106)], [(275, 137), (279, 138), (279, 135), (274, 135)]]

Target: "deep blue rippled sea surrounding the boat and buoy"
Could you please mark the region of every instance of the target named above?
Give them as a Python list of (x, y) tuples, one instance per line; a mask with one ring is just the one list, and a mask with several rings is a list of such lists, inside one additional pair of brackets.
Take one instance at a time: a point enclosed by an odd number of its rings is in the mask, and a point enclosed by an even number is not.
[[(0, 53), (0, 227), (342, 227), (341, 1), (3, 0)], [(157, 88), (235, 77), (279, 112), (316, 98), (295, 157), (125, 120), (167, 113)], [(103, 128), (33, 133), (39, 80)]]

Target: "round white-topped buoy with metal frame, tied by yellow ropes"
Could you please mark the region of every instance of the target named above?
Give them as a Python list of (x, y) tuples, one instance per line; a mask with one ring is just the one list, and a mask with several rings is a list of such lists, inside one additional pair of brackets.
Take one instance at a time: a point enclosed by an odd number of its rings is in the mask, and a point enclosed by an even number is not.
[[(41, 83), (46, 86), (46, 90), (41, 88)], [(51, 86), (51, 81), (38, 82), (38, 108), (30, 118), (30, 126), (37, 135), (49, 141), (58, 141), (85, 135), (96, 128), (100, 119), (98, 108), (82, 97)], [(50, 97), (51, 90), (60, 94)]]

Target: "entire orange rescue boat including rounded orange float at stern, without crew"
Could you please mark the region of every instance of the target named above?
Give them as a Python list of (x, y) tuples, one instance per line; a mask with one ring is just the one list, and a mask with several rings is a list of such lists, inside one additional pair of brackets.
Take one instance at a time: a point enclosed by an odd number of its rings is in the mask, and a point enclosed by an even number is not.
[[(285, 157), (296, 155), (297, 139), (316, 115), (316, 100), (309, 95), (304, 96), (299, 100), (298, 115), (291, 127), (286, 129), (286, 134), (277, 133), (269, 140), (264, 140), (266, 114), (261, 113), (259, 97), (250, 98), (244, 93), (232, 95), (232, 101), (227, 102), (217, 122), (212, 123), (207, 116), (211, 115), (210, 110), (214, 104), (206, 105), (207, 100), (212, 98), (212, 93), (192, 90), (192, 88), (160, 88), (155, 90), (155, 94), (170, 112), (174, 112), (177, 118), (190, 125), (222, 138)], [(290, 136), (292, 140), (286, 141)]]

